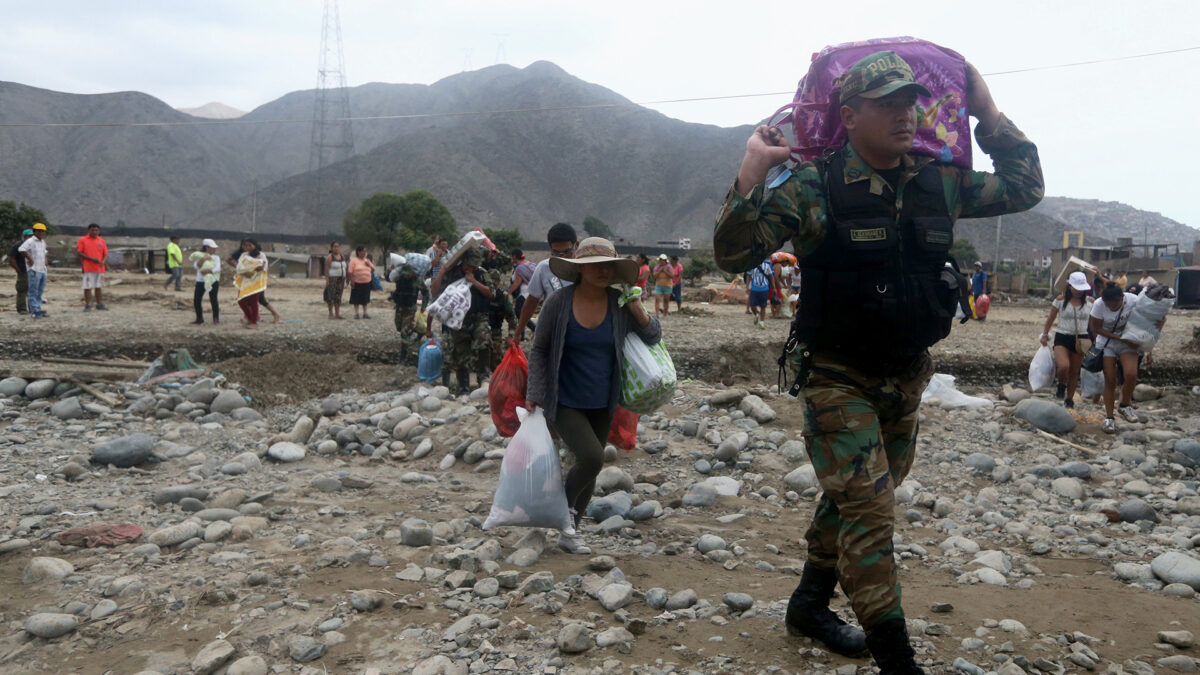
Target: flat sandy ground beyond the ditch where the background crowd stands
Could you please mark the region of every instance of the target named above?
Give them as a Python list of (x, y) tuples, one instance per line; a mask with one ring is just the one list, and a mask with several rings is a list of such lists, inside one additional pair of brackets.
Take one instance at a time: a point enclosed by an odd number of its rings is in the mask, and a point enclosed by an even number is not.
[[(343, 313), (349, 318), (331, 321), (322, 301), (319, 280), (272, 279), (266, 295), (281, 313), (281, 321), (270, 323), (269, 315), (263, 312), (266, 323), (251, 330), (240, 325), (241, 311), (228, 281), (222, 282), (221, 324), (214, 325), (206, 316), (204, 325), (190, 325), (194, 313), (187, 285), (182, 292), (175, 292), (162, 287), (163, 276), (128, 273), (109, 276), (115, 282), (106, 293), (109, 311), (84, 313), (78, 275), (52, 273), (46, 305), (50, 317), (34, 321), (12, 311), (13, 277), (0, 274), (0, 305), (5, 310), (0, 311), (0, 358), (121, 354), (150, 360), (169, 346), (187, 347), (205, 364), (281, 352), (307, 354), (299, 357), (298, 365), (302, 368), (324, 358), (314, 354), (350, 354), (362, 363), (400, 362), (392, 307), (386, 300), (390, 289), (373, 294), (370, 319), (355, 321), (353, 309), (347, 305)], [(934, 347), (938, 370), (958, 376), (964, 384), (998, 387), (1001, 382), (1021, 382), (1048, 311), (1040, 301), (1002, 305), (992, 307), (986, 322), (955, 324), (950, 336)], [(776, 381), (775, 359), (787, 336), (786, 319), (768, 321), (767, 329), (757, 329), (744, 307), (688, 301), (684, 312), (672, 312), (662, 327), (676, 365), (688, 377), (726, 383)], [(1156, 350), (1157, 364), (1142, 380), (1187, 383), (1200, 378), (1200, 354), (1183, 350), (1196, 327), (1200, 312), (1172, 312)], [(270, 374), (278, 368), (268, 363), (259, 370), (264, 377), (272, 377)], [(319, 384), (323, 380), (328, 381), (328, 390), (338, 390), (343, 382), (350, 387), (361, 377), (364, 374), (355, 369), (325, 365), (320, 372), (312, 371), (311, 384), (283, 386), (272, 394), (293, 395), (290, 389), (295, 388), (296, 400), (302, 400), (325, 388)]]

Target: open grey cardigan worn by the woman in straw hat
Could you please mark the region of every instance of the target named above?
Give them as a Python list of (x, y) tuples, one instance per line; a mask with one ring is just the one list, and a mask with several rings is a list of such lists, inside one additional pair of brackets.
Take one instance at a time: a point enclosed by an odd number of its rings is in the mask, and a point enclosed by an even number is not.
[[(650, 317), (646, 328), (637, 325), (629, 310), (617, 306), (620, 292), (608, 288), (608, 312), (612, 315), (612, 336), (617, 347), (617, 370), (612, 372), (612, 388), (608, 392), (608, 414), (617, 411), (620, 401), (620, 372), (625, 368), (625, 354), (622, 347), (625, 336), (636, 333), (647, 345), (656, 345), (662, 339), (659, 319)], [(566, 324), (570, 322), (575, 304), (575, 286), (568, 286), (551, 295), (538, 315), (538, 330), (533, 334), (533, 348), (529, 352), (529, 383), (526, 399), (545, 408), (546, 419), (553, 422), (558, 417), (558, 364), (563, 360), (563, 342), (566, 340)]]

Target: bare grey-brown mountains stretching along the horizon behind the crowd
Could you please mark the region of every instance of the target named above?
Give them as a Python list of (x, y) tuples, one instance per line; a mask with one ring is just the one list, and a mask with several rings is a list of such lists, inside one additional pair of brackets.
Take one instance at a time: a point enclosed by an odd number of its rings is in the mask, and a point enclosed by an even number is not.
[[(431, 85), (371, 83), (349, 97), (356, 118), (394, 119), (356, 121), (356, 155), (325, 169), (326, 185), (350, 169), (358, 175), (355, 190), (336, 196), (340, 210), (377, 191), (426, 189), (461, 227), (516, 227), (528, 237), (590, 214), (635, 241), (703, 240), (749, 133), (667, 118), (545, 61)], [(316, 184), (307, 172), (313, 102), (314, 91), (295, 91), (198, 126), (0, 127), (0, 198), (36, 204), (66, 225), (245, 231), (257, 181), (259, 232), (340, 232), (340, 222), (305, 213)], [(199, 121), (144, 94), (0, 83), (0, 123), (31, 120)], [(1031, 257), (1060, 245), (1067, 229), (1084, 229), (1090, 245), (1140, 241), (1144, 229), (1186, 249), (1200, 237), (1124, 204), (1048, 197), (1004, 219), (1001, 255)], [(994, 220), (962, 221), (959, 232), (983, 255), (995, 251)]]

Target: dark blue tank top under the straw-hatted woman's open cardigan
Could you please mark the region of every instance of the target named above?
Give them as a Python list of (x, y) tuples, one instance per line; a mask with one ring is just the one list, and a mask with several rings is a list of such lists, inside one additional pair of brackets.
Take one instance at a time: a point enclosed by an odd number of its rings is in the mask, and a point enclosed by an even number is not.
[(569, 312), (563, 360), (558, 364), (558, 405), (569, 408), (608, 407), (617, 348), (612, 338), (612, 311), (595, 328), (583, 328)]

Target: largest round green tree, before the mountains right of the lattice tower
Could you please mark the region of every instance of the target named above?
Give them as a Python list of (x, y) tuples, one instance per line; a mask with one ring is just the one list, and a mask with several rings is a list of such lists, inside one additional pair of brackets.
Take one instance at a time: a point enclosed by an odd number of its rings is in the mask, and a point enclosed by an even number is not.
[(431, 234), (454, 238), (455, 220), (426, 190), (404, 195), (376, 192), (346, 213), (342, 229), (356, 246), (416, 251), (428, 246)]

